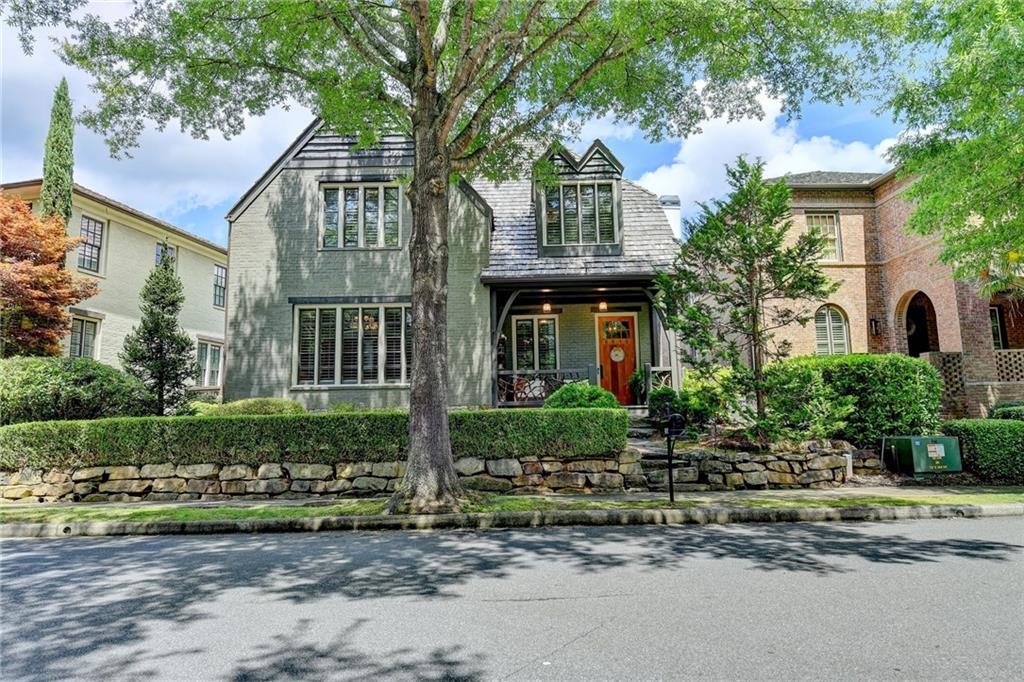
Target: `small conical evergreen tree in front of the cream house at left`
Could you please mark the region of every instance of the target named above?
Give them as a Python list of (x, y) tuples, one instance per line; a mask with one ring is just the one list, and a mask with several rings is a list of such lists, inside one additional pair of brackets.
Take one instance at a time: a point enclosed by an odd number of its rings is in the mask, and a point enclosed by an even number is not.
[(195, 344), (178, 326), (185, 295), (173, 256), (153, 268), (139, 296), (142, 319), (125, 337), (121, 364), (153, 393), (157, 415), (174, 414), (188, 403), (188, 382), (199, 367)]

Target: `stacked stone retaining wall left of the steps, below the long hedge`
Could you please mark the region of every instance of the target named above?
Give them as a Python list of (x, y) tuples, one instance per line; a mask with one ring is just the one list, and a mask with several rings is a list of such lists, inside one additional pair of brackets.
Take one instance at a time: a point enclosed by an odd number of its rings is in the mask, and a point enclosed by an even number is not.
[[(463, 485), (490, 493), (622, 493), (639, 473), (632, 449), (603, 459), (467, 457), (455, 465)], [(168, 502), (387, 495), (404, 462), (339, 464), (146, 464), (0, 472), (3, 502)], [(640, 476), (640, 479), (643, 477)], [(634, 482), (637, 477), (633, 476)]]

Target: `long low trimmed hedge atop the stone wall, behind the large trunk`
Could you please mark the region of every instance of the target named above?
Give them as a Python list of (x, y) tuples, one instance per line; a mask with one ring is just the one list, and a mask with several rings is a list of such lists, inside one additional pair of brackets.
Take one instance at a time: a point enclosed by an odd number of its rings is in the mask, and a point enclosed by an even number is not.
[[(456, 458), (588, 458), (626, 446), (625, 410), (452, 412)], [(409, 414), (140, 417), (0, 428), (0, 470), (23, 467), (390, 462), (404, 460)]]

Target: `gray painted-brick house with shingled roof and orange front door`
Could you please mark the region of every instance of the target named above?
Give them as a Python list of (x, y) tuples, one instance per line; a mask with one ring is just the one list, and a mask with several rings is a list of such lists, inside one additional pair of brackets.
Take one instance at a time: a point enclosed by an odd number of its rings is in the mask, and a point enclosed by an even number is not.
[[(398, 135), (356, 150), (314, 122), (230, 210), (225, 399), (408, 402), (412, 154)], [(572, 381), (630, 403), (637, 369), (678, 384), (651, 306), (677, 248), (675, 198), (624, 179), (600, 141), (546, 154), (558, 186), (452, 191), (452, 404), (539, 404)]]

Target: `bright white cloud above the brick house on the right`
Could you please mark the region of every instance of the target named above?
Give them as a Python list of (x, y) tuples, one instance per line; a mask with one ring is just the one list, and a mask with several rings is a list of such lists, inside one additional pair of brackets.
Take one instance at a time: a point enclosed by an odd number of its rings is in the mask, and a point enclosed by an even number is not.
[(804, 138), (796, 122), (779, 123), (779, 101), (762, 97), (761, 105), (765, 112), (761, 120), (707, 122), (701, 132), (679, 140), (671, 164), (644, 173), (638, 182), (658, 195), (679, 195), (683, 214), (692, 215), (696, 202), (725, 194), (725, 166), (739, 155), (761, 158), (769, 177), (813, 170), (881, 172), (889, 167), (885, 153), (895, 139), (870, 145), (828, 135)]

